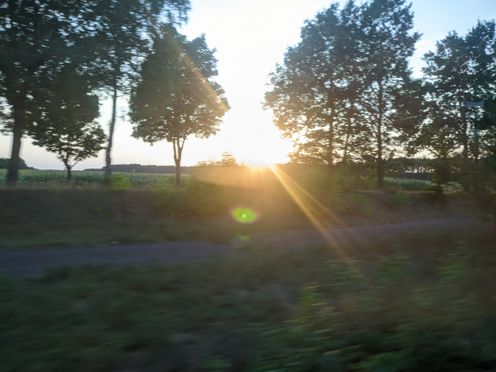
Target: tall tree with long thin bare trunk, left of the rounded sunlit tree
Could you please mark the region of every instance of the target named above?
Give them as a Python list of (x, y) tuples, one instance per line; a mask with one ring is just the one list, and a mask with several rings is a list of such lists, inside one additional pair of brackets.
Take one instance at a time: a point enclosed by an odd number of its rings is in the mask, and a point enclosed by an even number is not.
[(111, 175), (119, 94), (131, 90), (161, 22), (182, 22), (188, 10), (189, 0), (107, 0), (88, 7), (89, 32), (93, 36), (88, 48), (95, 54), (93, 71), (112, 99), (105, 151), (107, 181)]

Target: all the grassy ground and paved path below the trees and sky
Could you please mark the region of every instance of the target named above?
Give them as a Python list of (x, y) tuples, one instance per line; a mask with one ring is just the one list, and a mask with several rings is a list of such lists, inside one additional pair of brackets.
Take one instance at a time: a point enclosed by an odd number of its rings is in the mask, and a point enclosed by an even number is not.
[(496, 368), (491, 195), (221, 173), (1, 189), (0, 371)]

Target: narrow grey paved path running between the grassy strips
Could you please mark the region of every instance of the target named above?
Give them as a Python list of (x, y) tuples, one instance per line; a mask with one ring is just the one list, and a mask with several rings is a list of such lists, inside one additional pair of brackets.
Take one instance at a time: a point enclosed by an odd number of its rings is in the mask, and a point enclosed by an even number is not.
[[(397, 224), (367, 225), (335, 228), (324, 233), (316, 231), (284, 232), (253, 237), (250, 244), (270, 244), (275, 248), (300, 249), (310, 245), (331, 242), (343, 243), (373, 236), (386, 236), (404, 232), (423, 233), (432, 229), (466, 229), (479, 226), (475, 218), (442, 218), (410, 221)], [(18, 277), (39, 277), (49, 268), (109, 264), (128, 266), (159, 262), (204, 260), (238, 251), (237, 244), (209, 242), (166, 242), (156, 244), (103, 245), (96, 247), (58, 247), (0, 250), (0, 273)]]

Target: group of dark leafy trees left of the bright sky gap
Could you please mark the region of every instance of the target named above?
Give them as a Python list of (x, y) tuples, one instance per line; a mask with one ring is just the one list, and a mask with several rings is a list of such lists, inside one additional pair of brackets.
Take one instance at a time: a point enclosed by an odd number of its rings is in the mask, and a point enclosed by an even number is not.
[[(7, 182), (17, 181), (22, 139), (53, 152), (67, 177), (105, 149), (111, 175), (118, 100), (133, 135), (173, 144), (177, 182), (184, 143), (218, 130), (229, 109), (205, 36), (179, 34), (189, 0), (0, 1), (0, 124), (12, 135)], [(106, 133), (96, 122), (112, 102)]]

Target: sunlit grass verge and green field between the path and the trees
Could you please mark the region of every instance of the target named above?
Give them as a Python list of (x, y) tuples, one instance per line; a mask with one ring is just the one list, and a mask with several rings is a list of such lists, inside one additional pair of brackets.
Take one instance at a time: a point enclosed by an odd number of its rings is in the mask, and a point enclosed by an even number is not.
[[(383, 194), (373, 191), (372, 178), (345, 171), (328, 175), (320, 168), (280, 169), (311, 195), (297, 193), (324, 226), (484, 216), (494, 204), (457, 193), (438, 200), (428, 181), (386, 178), (388, 193)], [(0, 180), (4, 176), (0, 173)], [(22, 170), (18, 188), (0, 190), (0, 248), (231, 242), (240, 235), (315, 229), (291, 196), (297, 189), (287, 190), (268, 170), (199, 167), (184, 181), (177, 189), (173, 175), (116, 172), (104, 187), (103, 172), (76, 171), (67, 184), (63, 171)], [(352, 191), (356, 185), (362, 191)], [(237, 223), (231, 215), (236, 208), (254, 211), (254, 223)]]

